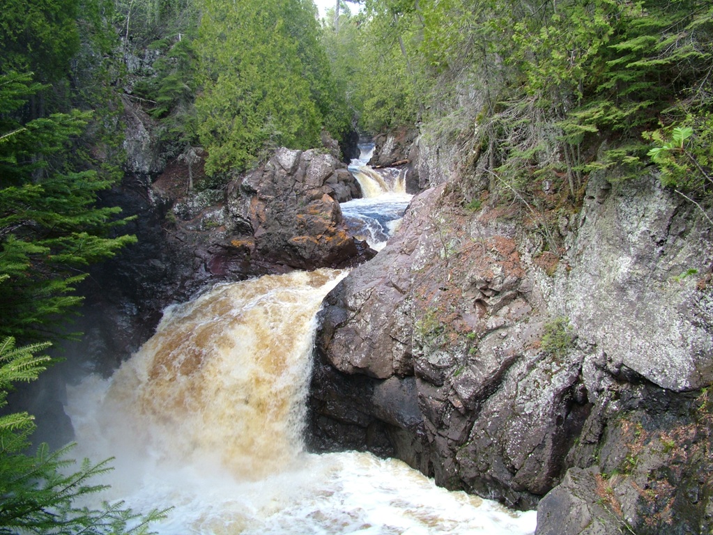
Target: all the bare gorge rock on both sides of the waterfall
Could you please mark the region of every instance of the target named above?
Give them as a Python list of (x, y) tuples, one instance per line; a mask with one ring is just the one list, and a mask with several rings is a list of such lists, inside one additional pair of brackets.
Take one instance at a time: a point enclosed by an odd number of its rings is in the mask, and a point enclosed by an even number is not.
[(207, 284), (351, 267), (319, 313), (312, 449), (537, 508), (538, 534), (713, 525), (713, 229), (654, 175), (590, 176), (581, 206), (543, 223), (487, 184), (463, 202), (453, 147), (384, 135), (374, 162), (409, 160), (417, 195), (374, 256), (342, 218), (359, 186), (329, 139), (202, 192), (128, 143), (103, 200), (137, 216), (139, 243), (93, 272), (78, 322), (99, 369)]

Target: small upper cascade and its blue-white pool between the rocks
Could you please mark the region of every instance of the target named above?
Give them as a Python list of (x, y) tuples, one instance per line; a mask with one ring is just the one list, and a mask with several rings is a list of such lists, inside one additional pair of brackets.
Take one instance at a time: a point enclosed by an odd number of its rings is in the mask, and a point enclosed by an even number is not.
[(349, 172), (359, 182), (364, 197), (342, 202), (340, 207), (352, 233), (379, 251), (393, 234), (412, 196), (406, 193), (405, 169), (373, 169), (367, 164), (374, 144), (361, 144), (359, 150), (361, 155), (349, 164)]

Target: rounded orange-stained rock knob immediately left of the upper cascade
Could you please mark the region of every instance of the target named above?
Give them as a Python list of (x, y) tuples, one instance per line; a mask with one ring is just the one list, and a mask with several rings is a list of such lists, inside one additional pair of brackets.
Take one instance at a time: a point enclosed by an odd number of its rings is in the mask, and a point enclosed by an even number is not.
[(252, 234), (251, 254), (292, 268), (363, 260), (364, 246), (349, 235), (339, 209), (339, 202), (352, 199), (355, 181), (339, 165), (317, 150), (278, 149), (228, 190), (227, 232)]

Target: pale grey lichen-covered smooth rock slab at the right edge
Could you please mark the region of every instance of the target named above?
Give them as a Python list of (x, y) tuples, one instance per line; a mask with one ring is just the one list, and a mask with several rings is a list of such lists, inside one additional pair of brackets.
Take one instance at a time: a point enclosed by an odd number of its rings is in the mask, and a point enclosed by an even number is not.
[(713, 381), (710, 233), (696, 214), (651, 182), (622, 185), (609, 202), (590, 199), (557, 277), (552, 306), (596, 344), (610, 368), (630, 369), (661, 388), (695, 390)]

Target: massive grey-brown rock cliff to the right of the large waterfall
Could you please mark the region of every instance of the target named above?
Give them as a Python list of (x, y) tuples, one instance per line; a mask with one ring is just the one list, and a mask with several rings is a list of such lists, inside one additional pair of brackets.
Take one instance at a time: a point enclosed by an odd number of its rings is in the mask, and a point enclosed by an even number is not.
[[(555, 257), (502, 207), (467, 212), (449, 190), (416, 197), (386, 248), (327, 296), (313, 446), (347, 436), (515, 507), (552, 491), (538, 533), (668, 532), (676, 514), (704, 525), (709, 420), (688, 391), (713, 382), (712, 229), (653, 177), (595, 177), (553, 230)], [(382, 402), (382, 385), (400, 401)], [(576, 511), (595, 518), (610, 495), (615, 517), (586, 531)]]

